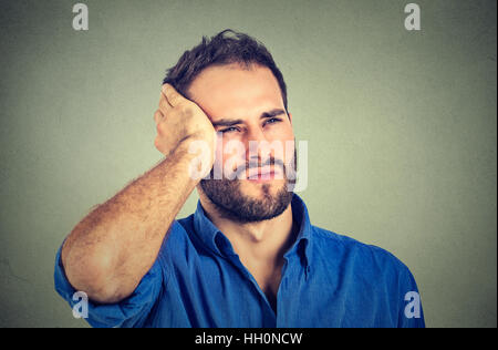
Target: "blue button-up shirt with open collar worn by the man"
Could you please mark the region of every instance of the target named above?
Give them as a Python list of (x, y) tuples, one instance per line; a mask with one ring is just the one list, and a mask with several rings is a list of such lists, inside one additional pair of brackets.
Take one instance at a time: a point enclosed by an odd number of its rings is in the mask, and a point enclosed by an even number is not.
[[(94, 327), (424, 327), (408, 268), (378, 247), (312, 226), (302, 199), (292, 198), (300, 230), (284, 255), (277, 313), (227, 237), (195, 214), (172, 225), (158, 257), (121, 302), (89, 300)], [(56, 291), (75, 306), (61, 262)], [(73, 300), (74, 297), (74, 300)]]

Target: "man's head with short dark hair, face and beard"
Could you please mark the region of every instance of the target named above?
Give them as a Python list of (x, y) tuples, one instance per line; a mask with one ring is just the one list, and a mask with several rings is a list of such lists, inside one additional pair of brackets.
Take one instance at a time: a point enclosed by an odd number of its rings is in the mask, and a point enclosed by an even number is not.
[[(215, 166), (199, 191), (218, 213), (241, 223), (283, 213), (292, 199), (287, 175), (295, 166), (294, 135), (286, 84), (267, 49), (224, 31), (184, 53), (164, 82), (197, 103), (217, 131)], [(216, 167), (230, 168), (236, 178), (224, 172), (214, 179)]]

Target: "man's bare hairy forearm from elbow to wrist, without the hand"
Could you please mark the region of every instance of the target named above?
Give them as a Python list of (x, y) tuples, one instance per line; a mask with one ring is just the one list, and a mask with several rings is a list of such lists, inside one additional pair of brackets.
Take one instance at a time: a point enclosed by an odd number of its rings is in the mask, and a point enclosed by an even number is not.
[(76, 225), (61, 254), (75, 289), (100, 302), (133, 292), (198, 183), (188, 172), (193, 157), (177, 148)]

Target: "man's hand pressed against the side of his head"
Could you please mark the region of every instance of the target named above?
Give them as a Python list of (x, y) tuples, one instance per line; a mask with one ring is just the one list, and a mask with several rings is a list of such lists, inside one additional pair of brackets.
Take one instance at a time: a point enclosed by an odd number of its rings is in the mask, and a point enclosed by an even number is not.
[[(157, 125), (156, 148), (168, 156), (177, 148), (188, 151), (193, 141), (203, 142), (208, 150), (204, 152), (209, 162), (203, 166), (211, 168), (215, 162), (215, 128), (204, 111), (193, 101), (179, 94), (170, 84), (164, 84), (159, 109), (154, 113)], [(206, 153), (207, 152), (207, 153)]]

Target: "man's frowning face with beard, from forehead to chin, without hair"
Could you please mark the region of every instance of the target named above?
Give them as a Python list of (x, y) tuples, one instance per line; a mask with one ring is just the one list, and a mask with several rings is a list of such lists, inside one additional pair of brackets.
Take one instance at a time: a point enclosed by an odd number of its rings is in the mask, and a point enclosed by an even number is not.
[[(221, 215), (238, 222), (280, 215), (292, 198), (286, 173), (294, 166), (295, 148), (292, 116), (272, 72), (260, 65), (209, 66), (188, 94), (218, 132), (210, 179), (200, 182), (206, 196)], [(225, 169), (221, 179), (214, 179), (215, 168)]]

